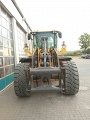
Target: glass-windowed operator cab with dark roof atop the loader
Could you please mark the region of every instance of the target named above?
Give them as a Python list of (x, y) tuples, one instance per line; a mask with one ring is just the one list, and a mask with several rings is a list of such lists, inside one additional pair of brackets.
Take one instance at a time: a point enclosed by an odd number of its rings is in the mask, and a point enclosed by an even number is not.
[[(58, 37), (61, 38), (62, 34), (59, 31), (40, 31), (40, 32), (31, 32), (28, 35), (28, 40), (33, 38), (33, 48), (42, 48), (43, 38), (47, 38), (46, 41), (46, 48), (57, 48), (57, 40)], [(45, 44), (44, 41), (44, 44)]]

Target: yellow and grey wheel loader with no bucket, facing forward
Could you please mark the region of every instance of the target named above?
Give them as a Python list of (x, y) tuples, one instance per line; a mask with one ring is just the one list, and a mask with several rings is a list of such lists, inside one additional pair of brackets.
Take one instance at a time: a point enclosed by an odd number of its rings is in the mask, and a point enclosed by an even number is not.
[(27, 43), (14, 71), (14, 91), (19, 97), (30, 96), (33, 91), (60, 91), (64, 95), (75, 95), (79, 91), (79, 74), (75, 62), (66, 52), (65, 42), (57, 49), (62, 38), (60, 31), (32, 31), (28, 34), (32, 51)]

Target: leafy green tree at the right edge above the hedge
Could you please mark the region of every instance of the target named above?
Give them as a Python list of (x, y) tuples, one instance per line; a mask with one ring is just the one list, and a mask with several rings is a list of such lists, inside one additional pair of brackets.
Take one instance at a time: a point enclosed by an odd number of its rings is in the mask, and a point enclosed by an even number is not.
[(79, 46), (81, 47), (81, 49), (85, 51), (88, 48), (90, 48), (90, 35), (89, 34), (84, 33), (83, 35), (79, 37)]

